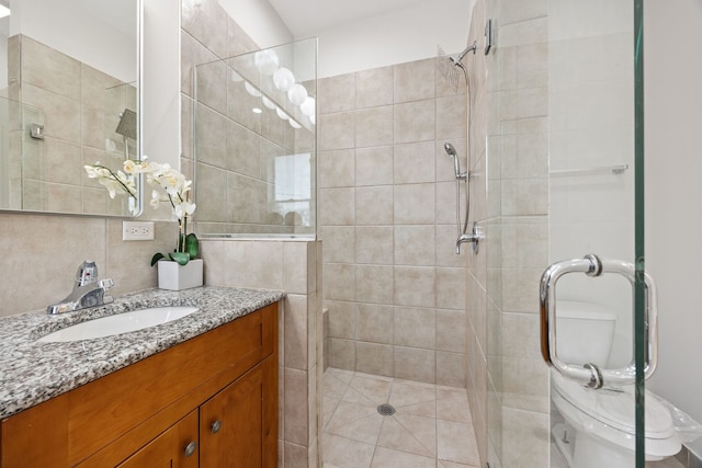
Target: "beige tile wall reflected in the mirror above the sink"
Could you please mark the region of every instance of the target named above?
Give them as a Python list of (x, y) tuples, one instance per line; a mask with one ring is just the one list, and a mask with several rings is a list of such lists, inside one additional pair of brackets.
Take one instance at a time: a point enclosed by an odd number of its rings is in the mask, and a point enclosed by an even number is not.
[[(12, 184), (14, 209), (121, 215), (126, 198), (110, 199), (83, 165), (97, 161), (118, 169), (124, 138), (115, 133), (120, 113), (136, 111), (136, 89), (26, 35), (9, 39), (21, 50), (10, 60), (10, 98), (22, 102), (22, 125), (13, 138), (13, 158), (22, 161)], [(44, 125), (44, 139), (30, 138), (30, 124)], [(110, 141), (110, 144), (107, 142)], [(129, 153), (135, 153), (129, 140)], [(20, 175), (18, 174), (18, 178)], [(21, 196), (20, 196), (21, 193)]]

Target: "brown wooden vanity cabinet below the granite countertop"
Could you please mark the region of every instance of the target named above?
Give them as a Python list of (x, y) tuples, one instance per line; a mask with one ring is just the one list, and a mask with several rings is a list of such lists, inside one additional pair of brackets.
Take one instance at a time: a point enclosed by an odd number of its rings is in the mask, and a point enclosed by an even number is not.
[(278, 305), (22, 411), (0, 468), (278, 465)]

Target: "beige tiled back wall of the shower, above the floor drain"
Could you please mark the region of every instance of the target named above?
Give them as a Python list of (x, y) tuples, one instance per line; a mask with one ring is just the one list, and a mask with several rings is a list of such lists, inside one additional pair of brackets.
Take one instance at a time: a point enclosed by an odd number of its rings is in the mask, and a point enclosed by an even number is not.
[(465, 169), (465, 88), (434, 59), (319, 82), (319, 237), (329, 364), (465, 386), (466, 258), (451, 141)]

